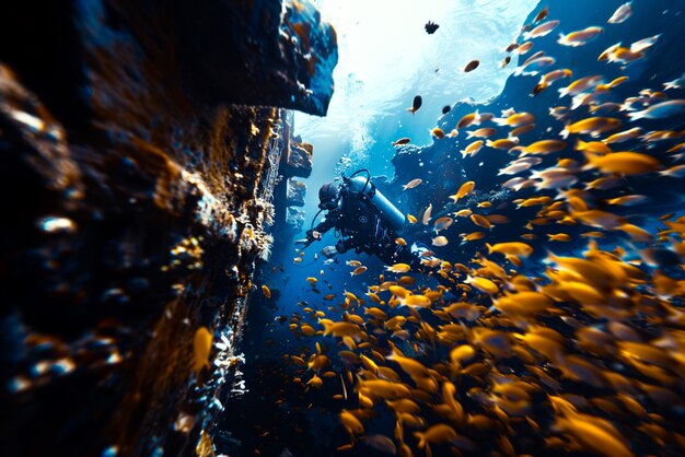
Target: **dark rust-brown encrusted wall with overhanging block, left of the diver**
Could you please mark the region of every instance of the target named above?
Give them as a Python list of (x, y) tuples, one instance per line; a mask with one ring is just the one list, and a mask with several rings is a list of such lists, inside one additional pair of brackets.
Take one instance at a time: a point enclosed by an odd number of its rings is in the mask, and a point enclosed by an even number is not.
[(205, 7), (0, 19), (3, 455), (213, 453), (281, 108), (325, 114), (337, 49), (309, 2)]

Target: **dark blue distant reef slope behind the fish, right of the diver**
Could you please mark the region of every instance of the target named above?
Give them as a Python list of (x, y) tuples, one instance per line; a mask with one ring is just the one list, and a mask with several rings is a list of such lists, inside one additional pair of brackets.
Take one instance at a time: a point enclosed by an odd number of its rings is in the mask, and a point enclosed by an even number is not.
[[(501, 117), (503, 110), (513, 108), (518, 113), (525, 112), (535, 116), (535, 128), (530, 132), (521, 134), (519, 138), (521, 145), (527, 145), (546, 139), (560, 140), (559, 133), (566, 124), (593, 116), (589, 110), (589, 106), (581, 106), (570, 112), (564, 120), (557, 120), (549, 114), (549, 108), (552, 107), (571, 105), (571, 96), (561, 98), (558, 90), (577, 79), (601, 75), (603, 81), (608, 84), (616, 78), (628, 77), (626, 82), (612, 90), (614, 101), (617, 103), (623, 103), (627, 97), (636, 96), (645, 89), (663, 91), (664, 82), (678, 79), (685, 71), (685, 65), (683, 65), (683, 60), (680, 58), (680, 56), (685, 55), (685, 40), (682, 37), (684, 19), (682, 15), (673, 12), (675, 3), (672, 1), (634, 1), (632, 16), (627, 22), (623, 24), (607, 24), (607, 20), (623, 3), (625, 3), (624, 0), (541, 1), (522, 26), (532, 24), (537, 13), (545, 7), (549, 9), (549, 15), (546, 20), (559, 21), (559, 25), (547, 36), (533, 38), (531, 40), (533, 43), (532, 49), (523, 56), (513, 55), (510, 66), (522, 66), (529, 58), (541, 51), (544, 52), (544, 56), (553, 57), (556, 60), (555, 65), (543, 69), (537, 75), (512, 74), (507, 80), (501, 94), (489, 101), (483, 103), (473, 101), (456, 102), (448, 114), (438, 119), (437, 127), (449, 133), (456, 128), (460, 119), (467, 114), (477, 110), (480, 114), (489, 113), (495, 115), (495, 117)], [(669, 11), (671, 14), (669, 14)], [(604, 32), (584, 46), (567, 47), (557, 43), (560, 33), (569, 34), (593, 25), (603, 27)], [(637, 62), (622, 65), (597, 59), (605, 49), (617, 43), (629, 47), (635, 42), (657, 35), (657, 44), (648, 49), (645, 52), (645, 57)], [(525, 39), (519, 37), (519, 44), (524, 42)], [(509, 44), (501, 43), (502, 50)], [(502, 54), (502, 59), (503, 57), (504, 54)], [(518, 62), (516, 59), (519, 60)], [(557, 81), (550, 87), (535, 95), (534, 89), (538, 84), (541, 75), (553, 69), (569, 69), (572, 71), (572, 78)], [(670, 98), (683, 98), (685, 96), (684, 92), (682, 89), (676, 89), (667, 91), (667, 95)], [(461, 94), (461, 98), (464, 98), (464, 95), (467, 94)], [(658, 120), (643, 119), (635, 122), (630, 122), (625, 113), (612, 114), (609, 116), (623, 120), (623, 127), (612, 133), (638, 126), (645, 132), (682, 130), (685, 121), (683, 116)], [(510, 126), (500, 127), (492, 121), (488, 121), (480, 126), (461, 129), (458, 136), (453, 138), (449, 134), (444, 139), (434, 138), (433, 142), (428, 145), (416, 147), (407, 144), (397, 147), (393, 157), (395, 168), (392, 183), (393, 194), (396, 199), (402, 200), (402, 210), (418, 215), (419, 220), (428, 206), (432, 204), (431, 223), (441, 215), (449, 215), (465, 208), (476, 208), (477, 202), (490, 201), (490, 208), (479, 209), (478, 211), (486, 215), (504, 215), (510, 222), (506, 225), (495, 226), (488, 233), (488, 242), (494, 244), (519, 239), (521, 234), (527, 232), (523, 226), (530, 220), (535, 219), (538, 209), (516, 209), (516, 206), (512, 204), (511, 201), (516, 198), (543, 195), (556, 197), (557, 191), (527, 188), (514, 192), (502, 188), (501, 184), (514, 176), (498, 175), (498, 173), (509, 162), (516, 159), (516, 154), (508, 154), (506, 150), (497, 150), (484, 145), (475, 156), (464, 157), (461, 151), (478, 140), (478, 138), (468, 138), (467, 131), (476, 130), (480, 127), (492, 127), (496, 129), (496, 133), (490, 137), (492, 141), (507, 138), (512, 130)], [(571, 134), (568, 139), (566, 152), (544, 156), (543, 163), (537, 165), (535, 169), (554, 166), (560, 156), (573, 157), (582, 164), (584, 162), (582, 152), (574, 151), (578, 138), (579, 136)], [(580, 138), (585, 141), (592, 141), (592, 138), (589, 136), (580, 136)], [(664, 145), (665, 143), (646, 145), (638, 138), (616, 147), (620, 148), (620, 150), (643, 150), (648, 148), (650, 153), (661, 156), (663, 163), (667, 164), (669, 157), (665, 150), (669, 148), (664, 148)], [(669, 143), (669, 145), (673, 144)], [(526, 176), (526, 174), (521, 175)], [(403, 192), (402, 185), (417, 177), (423, 180), (421, 187)], [(456, 204), (453, 203), (450, 196), (454, 195), (458, 187), (467, 180), (476, 183), (475, 191), (468, 198), (460, 200)], [(663, 184), (663, 180), (659, 180), (659, 183)], [(649, 204), (630, 208), (613, 207), (612, 211), (620, 215), (642, 214), (643, 222), (647, 222), (649, 214), (661, 215), (665, 211), (664, 209), (673, 208), (674, 203), (677, 204), (677, 202), (682, 201), (682, 196), (685, 192), (682, 179), (671, 179), (667, 186), (655, 186), (654, 184), (653, 177), (649, 176), (627, 177), (623, 192), (646, 195), (650, 197), (650, 200), (648, 200)], [(614, 189), (612, 195), (615, 196), (617, 191), (620, 194), (622, 189)], [(601, 199), (602, 194), (597, 192), (596, 198)], [(659, 212), (660, 210), (664, 211)], [(440, 256), (452, 259), (452, 261), (468, 259), (475, 254), (476, 249), (485, 249), (483, 242), (460, 244), (461, 239), (457, 233), (469, 233), (481, 228), (471, 223), (468, 218), (456, 219), (457, 223), (452, 226), (451, 232), (443, 233), (452, 242), (448, 246), (438, 249)], [(573, 234), (588, 230), (591, 228), (582, 224), (565, 226), (552, 223), (537, 227), (536, 233), (566, 231)], [(430, 245), (429, 231), (420, 223), (410, 226), (407, 231), (410, 237), (418, 237)], [(532, 242), (532, 244), (537, 248), (536, 255), (544, 256), (546, 249), (543, 248), (541, 242), (545, 242), (545, 238), (541, 237), (538, 242)], [(572, 247), (571, 245), (568, 244), (566, 246)]]

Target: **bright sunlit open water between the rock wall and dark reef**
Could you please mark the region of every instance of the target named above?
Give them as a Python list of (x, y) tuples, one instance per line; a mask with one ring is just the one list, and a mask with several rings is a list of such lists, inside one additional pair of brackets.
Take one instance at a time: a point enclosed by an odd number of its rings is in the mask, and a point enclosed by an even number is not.
[[(315, 3), (324, 19), (336, 27), (339, 61), (334, 72), (336, 92), (327, 116), (295, 113), (294, 133), (314, 144), (314, 167), (305, 180), (304, 231), (318, 211), (318, 188), (324, 183), (359, 168), (392, 178), (393, 141), (409, 137), (415, 144), (430, 143), (430, 129), (442, 116), (443, 106), (463, 99), (485, 102), (497, 96), (515, 68), (499, 68), (506, 56), (503, 50), (518, 35), (536, 1)], [(429, 20), (440, 25), (433, 35), (423, 31)], [(463, 67), (476, 58), (483, 61), (478, 71), (464, 73)], [(422, 96), (423, 105), (413, 115), (406, 108), (417, 94)], [(321, 244), (307, 249), (302, 263), (288, 268), (286, 276), (290, 280), (282, 309), (292, 310), (290, 305), (297, 301), (315, 296), (304, 279), (318, 277), (322, 268), (328, 273), (325, 280), (338, 278), (332, 276), (330, 268), (351, 270), (335, 268), (339, 267), (335, 263), (323, 266), (321, 258), (313, 261), (315, 251), (335, 242), (328, 234)], [(353, 253), (339, 256), (340, 266), (350, 259), (362, 260), (369, 272), (381, 266), (374, 258)], [(365, 285), (361, 278), (342, 276), (341, 281), (342, 288), (346, 283), (358, 285), (358, 290), (359, 285)]]

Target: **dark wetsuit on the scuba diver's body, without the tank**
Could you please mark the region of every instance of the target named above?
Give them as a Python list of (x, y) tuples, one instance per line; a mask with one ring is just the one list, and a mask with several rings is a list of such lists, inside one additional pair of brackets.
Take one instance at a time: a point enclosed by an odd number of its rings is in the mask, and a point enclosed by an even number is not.
[(334, 227), (341, 237), (336, 245), (340, 254), (355, 249), (376, 256), (387, 265), (408, 263), (411, 269), (421, 267), (418, 255), (411, 253), (409, 247), (395, 243), (398, 235), (387, 227), (380, 211), (364, 194), (342, 189), (340, 206), (328, 211), (324, 221), (306, 232), (307, 239), (314, 239), (313, 232), (323, 234)]

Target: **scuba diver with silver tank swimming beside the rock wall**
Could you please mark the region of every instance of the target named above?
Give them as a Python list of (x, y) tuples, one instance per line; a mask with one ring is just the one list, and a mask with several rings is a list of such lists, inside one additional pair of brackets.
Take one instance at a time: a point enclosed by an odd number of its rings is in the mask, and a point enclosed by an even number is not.
[[(367, 176), (359, 176), (364, 173)], [(405, 215), (390, 202), (371, 183), (368, 169), (360, 169), (350, 177), (342, 176), (342, 186), (326, 183), (318, 190), (320, 211), (306, 232), (306, 238), (295, 245), (306, 248), (330, 228), (340, 238), (335, 246), (326, 246), (321, 254), (330, 259), (337, 254), (355, 249), (376, 256), (386, 265), (407, 263), (413, 270), (421, 268), (421, 253), (426, 247), (395, 242), (405, 225)], [(314, 222), (322, 211), (328, 211), (323, 222)]]

